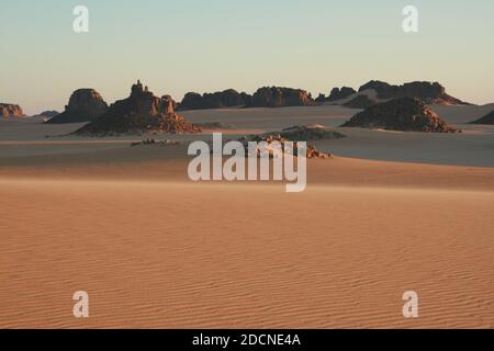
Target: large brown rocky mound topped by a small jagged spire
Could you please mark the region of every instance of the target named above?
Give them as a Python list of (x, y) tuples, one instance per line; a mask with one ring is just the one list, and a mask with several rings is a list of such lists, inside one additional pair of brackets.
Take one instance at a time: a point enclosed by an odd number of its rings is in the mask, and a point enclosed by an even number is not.
[(131, 95), (112, 104), (103, 115), (76, 132), (78, 135), (104, 136), (125, 133), (198, 133), (201, 129), (175, 113), (169, 95), (155, 97), (141, 81)]

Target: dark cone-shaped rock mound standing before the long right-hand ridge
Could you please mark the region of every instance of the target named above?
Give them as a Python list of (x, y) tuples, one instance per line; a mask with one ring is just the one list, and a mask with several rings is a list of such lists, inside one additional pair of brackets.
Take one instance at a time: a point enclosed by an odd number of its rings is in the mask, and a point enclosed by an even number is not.
[(422, 101), (413, 98), (400, 98), (373, 105), (356, 114), (343, 126), (405, 132), (458, 132)]

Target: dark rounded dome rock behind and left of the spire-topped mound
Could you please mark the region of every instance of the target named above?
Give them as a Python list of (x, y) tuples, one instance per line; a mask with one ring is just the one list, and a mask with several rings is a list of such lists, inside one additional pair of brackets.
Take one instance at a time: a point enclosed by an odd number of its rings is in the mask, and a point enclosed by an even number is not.
[(69, 99), (65, 111), (47, 123), (80, 123), (94, 121), (108, 111), (108, 104), (94, 89), (78, 89)]

